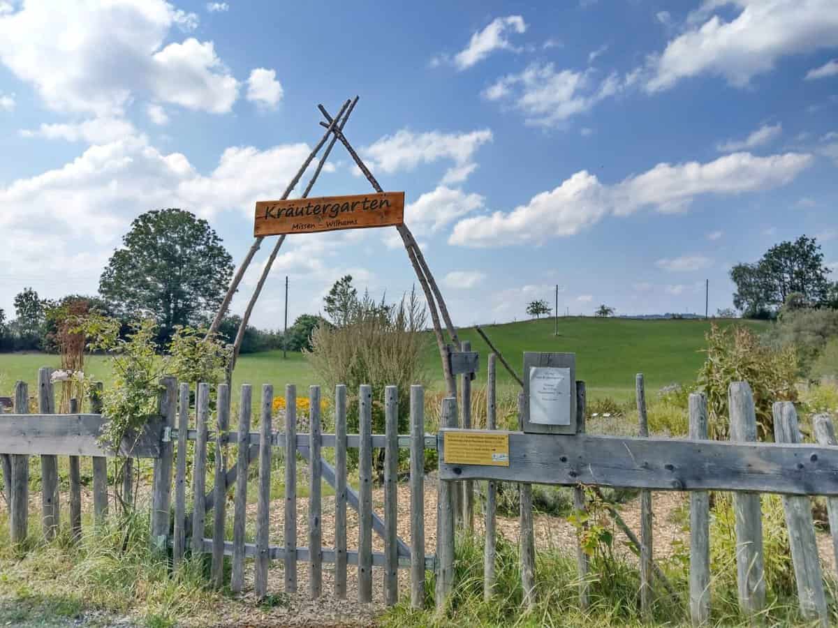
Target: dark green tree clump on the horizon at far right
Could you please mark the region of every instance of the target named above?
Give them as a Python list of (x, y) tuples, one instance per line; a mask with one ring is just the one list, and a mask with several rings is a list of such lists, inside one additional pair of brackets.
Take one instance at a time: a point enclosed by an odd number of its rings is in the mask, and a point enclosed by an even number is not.
[(829, 273), (816, 239), (801, 235), (772, 246), (753, 264), (732, 267), (731, 280), (737, 286), (733, 305), (746, 317), (773, 317), (796, 292), (796, 307), (828, 306)]

